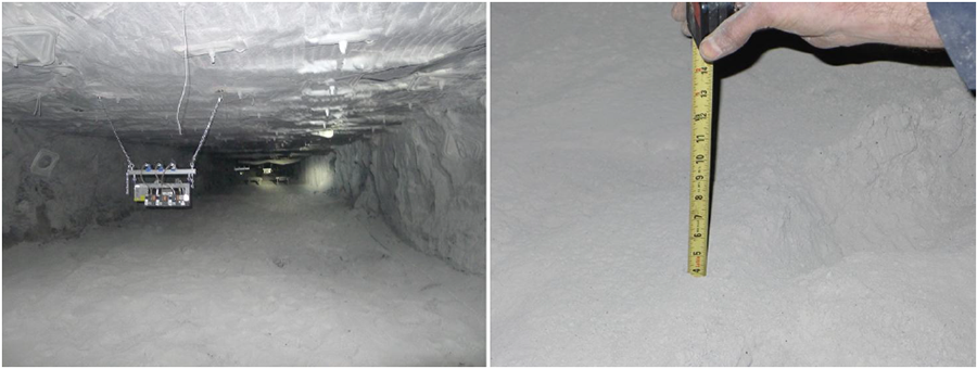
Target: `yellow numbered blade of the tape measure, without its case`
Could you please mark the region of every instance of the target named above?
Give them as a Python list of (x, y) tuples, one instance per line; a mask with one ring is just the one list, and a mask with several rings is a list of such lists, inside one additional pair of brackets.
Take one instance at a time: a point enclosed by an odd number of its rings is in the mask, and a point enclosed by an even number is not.
[(709, 194), (712, 186), (712, 64), (693, 41), (691, 171), (688, 195), (688, 272), (706, 276), (709, 252)]

